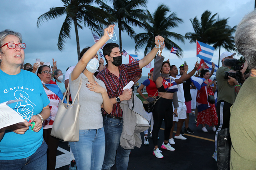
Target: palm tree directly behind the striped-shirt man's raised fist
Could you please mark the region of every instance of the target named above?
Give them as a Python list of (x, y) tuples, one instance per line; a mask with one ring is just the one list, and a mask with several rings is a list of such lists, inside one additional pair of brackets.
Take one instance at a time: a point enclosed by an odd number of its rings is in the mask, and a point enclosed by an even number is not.
[(144, 55), (146, 55), (149, 50), (153, 49), (155, 46), (155, 36), (161, 35), (165, 38), (165, 47), (168, 50), (171, 50), (172, 47), (177, 47), (178, 51), (176, 52), (176, 55), (179, 58), (182, 57), (183, 50), (170, 38), (174, 38), (184, 43), (184, 37), (181, 34), (170, 32), (169, 30), (178, 27), (183, 21), (178, 18), (174, 12), (168, 16), (169, 12), (171, 12), (171, 10), (163, 4), (158, 6), (153, 14), (147, 11), (148, 19), (143, 22), (146, 32), (139, 33), (134, 38), (136, 43), (136, 53), (142, 46), (146, 45), (144, 50)]

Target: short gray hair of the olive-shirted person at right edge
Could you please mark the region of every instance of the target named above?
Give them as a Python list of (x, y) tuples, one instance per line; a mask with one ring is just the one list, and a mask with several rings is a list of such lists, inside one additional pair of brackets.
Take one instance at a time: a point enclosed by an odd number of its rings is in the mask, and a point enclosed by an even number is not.
[(238, 52), (248, 62), (248, 69), (256, 69), (256, 10), (244, 16), (235, 33)]

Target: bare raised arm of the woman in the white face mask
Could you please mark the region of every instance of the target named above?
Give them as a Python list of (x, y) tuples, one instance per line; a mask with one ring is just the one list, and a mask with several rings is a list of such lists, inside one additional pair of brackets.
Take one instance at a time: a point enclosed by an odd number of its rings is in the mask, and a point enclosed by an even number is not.
[(105, 28), (104, 35), (83, 54), (82, 58), (78, 61), (71, 73), (71, 80), (75, 80), (79, 77), (89, 60), (96, 54), (100, 47), (102, 47), (102, 45), (109, 40), (108, 32), (113, 33), (114, 26), (115, 25), (110, 25), (108, 28)]

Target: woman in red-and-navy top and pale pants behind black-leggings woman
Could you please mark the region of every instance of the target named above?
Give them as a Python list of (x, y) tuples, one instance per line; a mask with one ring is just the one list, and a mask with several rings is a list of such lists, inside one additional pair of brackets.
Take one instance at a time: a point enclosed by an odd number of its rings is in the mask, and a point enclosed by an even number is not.
[[(157, 93), (157, 86), (155, 81), (153, 80), (153, 74), (154, 74), (154, 68), (152, 68), (148, 74), (148, 79), (145, 80), (142, 85), (139, 86), (139, 88), (137, 89), (137, 92), (141, 95), (141, 97), (143, 97), (145, 100), (149, 97), (157, 97), (158, 93)], [(146, 86), (146, 90), (148, 93), (148, 96), (145, 97), (141, 90)], [(149, 118), (149, 122), (151, 122), (151, 138), (152, 138), (152, 131), (153, 131), (153, 126), (154, 126), (154, 119), (152, 116), (152, 111), (148, 113), (148, 118)], [(148, 141), (148, 129), (146, 131), (144, 131), (144, 144), (149, 144)]]

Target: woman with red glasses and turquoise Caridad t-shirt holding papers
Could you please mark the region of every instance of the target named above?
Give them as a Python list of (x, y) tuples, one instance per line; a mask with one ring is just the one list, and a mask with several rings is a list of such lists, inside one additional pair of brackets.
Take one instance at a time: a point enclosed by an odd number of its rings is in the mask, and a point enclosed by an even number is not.
[(50, 115), (50, 103), (40, 79), (21, 70), (24, 49), (21, 34), (11, 30), (0, 32), (0, 103), (9, 104), (24, 119), (5, 128), (0, 142), (1, 169), (19, 170), (47, 168), (47, 144), (43, 139), (43, 120)]

